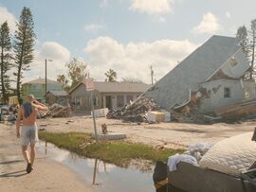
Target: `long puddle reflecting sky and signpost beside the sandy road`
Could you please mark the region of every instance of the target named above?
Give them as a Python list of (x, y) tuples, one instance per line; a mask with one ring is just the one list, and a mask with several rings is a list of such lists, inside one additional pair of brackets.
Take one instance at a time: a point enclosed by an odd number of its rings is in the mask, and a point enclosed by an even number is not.
[(141, 172), (136, 168), (113, 166), (100, 160), (80, 157), (75, 153), (57, 148), (43, 141), (38, 143), (37, 150), (46, 154), (46, 158), (69, 166), (80, 175), (86, 184), (93, 184), (96, 191), (155, 191), (154, 167), (147, 172)]

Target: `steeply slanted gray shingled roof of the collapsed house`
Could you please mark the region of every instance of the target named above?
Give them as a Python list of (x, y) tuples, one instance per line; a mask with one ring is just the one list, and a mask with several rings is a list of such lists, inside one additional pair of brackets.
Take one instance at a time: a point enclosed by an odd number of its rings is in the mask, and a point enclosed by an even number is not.
[(155, 83), (144, 96), (153, 98), (166, 110), (181, 105), (189, 99), (190, 90), (204, 82), (221, 65), (236, 53), (239, 40), (231, 37), (212, 36), (165, 77)]

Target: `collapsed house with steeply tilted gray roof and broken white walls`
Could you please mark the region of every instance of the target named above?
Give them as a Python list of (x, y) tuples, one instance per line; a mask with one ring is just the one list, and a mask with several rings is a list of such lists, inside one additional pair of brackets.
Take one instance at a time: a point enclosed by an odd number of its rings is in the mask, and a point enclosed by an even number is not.
[(196, 121), (214, 115), (216, 108), (255, 99), (255, 81), (244, 79), (250, 65), (240, 43), (212, 36), (142, 96), (182, 121)]

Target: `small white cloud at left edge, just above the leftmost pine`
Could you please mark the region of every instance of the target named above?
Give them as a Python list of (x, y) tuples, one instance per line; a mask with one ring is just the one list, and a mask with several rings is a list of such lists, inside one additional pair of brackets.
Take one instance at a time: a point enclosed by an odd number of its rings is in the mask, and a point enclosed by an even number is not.
[(14, 33), (17, 22), (15, 16), (7, 8), (0, 7), (0, 25), (6, 21), (8, 22), (10, 33)]

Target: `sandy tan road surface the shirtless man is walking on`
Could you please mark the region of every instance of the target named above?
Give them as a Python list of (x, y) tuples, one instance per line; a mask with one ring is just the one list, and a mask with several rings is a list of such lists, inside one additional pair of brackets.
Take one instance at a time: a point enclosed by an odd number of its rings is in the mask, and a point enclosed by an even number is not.
[(14, 127), (0, 124), (0, 191), (93, 191), (67, 166), (46, 159), (43, 154), (37, 155), (34, 166), (27, 174)]

